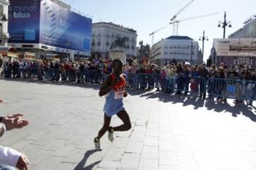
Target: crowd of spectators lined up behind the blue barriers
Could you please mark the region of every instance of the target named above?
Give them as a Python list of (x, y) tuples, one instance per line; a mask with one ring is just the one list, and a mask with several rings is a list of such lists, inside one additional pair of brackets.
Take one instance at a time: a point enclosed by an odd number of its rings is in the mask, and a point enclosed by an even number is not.
[[(249, 104), (255, 99), (256, 73), (247, 65), (228, 67), (225, 63), (220, 63), (210, 67), (206, 67), (205, 64), (191, 67), (186, 62), (170, 62), (160, 68), (156, 64), (148, 63), (146, 58), (139, 63), (134, 57), (124, 64), (127, 87), (147, 90), (156, 87), (156, 91), (161, 90), (166, 93), (174, 93), (176, 90), (176, 94), (184, 96), (191, 91), (202, 99), (206, 98), (208, 92), (208, 98), (225, 102), (228, 89), (233, 86), (234, 103), (242, 103), (245, 89), (250, 87), (252, 96), (251, 99), (249, 98)], [(14, 60), (4, 63), (1, 77), (100, 84), (111, 72), (112, 60), (107, 58), (84, 62)]]

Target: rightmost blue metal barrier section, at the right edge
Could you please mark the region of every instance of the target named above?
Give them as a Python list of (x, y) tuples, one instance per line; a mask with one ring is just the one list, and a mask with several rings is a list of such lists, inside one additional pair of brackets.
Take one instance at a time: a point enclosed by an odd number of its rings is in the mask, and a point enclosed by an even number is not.
[(210, 78), (208, 80), (208, 94), (217, 98), (255, 101), (256, 81)]

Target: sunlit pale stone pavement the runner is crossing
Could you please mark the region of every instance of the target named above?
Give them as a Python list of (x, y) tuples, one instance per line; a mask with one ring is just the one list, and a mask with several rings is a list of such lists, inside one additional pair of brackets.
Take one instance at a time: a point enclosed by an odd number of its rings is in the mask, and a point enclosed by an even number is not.
[(95, 152), (105, 102), (96, 86), (0, 80), (1, 115), (24, 113), (30, 120), (0, 143), (26, 154), (36, 170), (256, 169), (255, 106), (142, 92), (124, 100), (132, 130), (116, 132), (112, 143), (105, 135), (102, 152)]

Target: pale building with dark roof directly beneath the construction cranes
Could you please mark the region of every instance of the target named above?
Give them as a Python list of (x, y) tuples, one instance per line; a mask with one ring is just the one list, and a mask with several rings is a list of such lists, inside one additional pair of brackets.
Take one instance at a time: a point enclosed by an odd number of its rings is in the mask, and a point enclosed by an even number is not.
[(171, 36), (151, 47), (151, 62), (163, 66), (166, 62), (176, 60), (177, 62), (201, 62), (198, 42), (187, 36)]

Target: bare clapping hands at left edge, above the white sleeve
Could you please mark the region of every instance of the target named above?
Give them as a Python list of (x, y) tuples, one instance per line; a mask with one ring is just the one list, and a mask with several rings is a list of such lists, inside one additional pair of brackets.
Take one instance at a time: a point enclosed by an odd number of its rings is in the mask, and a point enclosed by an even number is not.
[(6, 116), (2, 123), (6, 125), (6, 130), (21, 129), (28, 125), (28, 120), (23, 120), (23, 114), (17, 113), (14, 115)]

